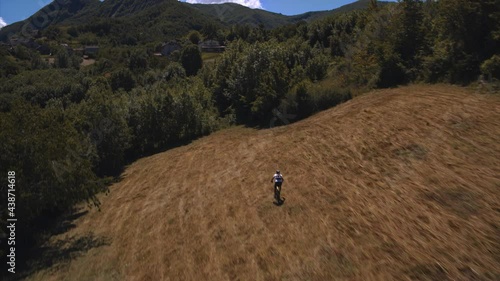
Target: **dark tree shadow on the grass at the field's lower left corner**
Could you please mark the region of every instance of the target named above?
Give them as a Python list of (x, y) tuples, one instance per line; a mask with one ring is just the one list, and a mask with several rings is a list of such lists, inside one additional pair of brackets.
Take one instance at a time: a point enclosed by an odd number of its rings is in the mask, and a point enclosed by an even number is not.
[(38, 271), (64, 266), (93, 248), (110, 245), (111, 239), (96, 236), (92, 232), (50, 241), (51, 237), (74, 228), (74, 220), (87, 213), (88, 211), (81, 211), (61, 216), (55, 224), (43, 229), (42, 238), (30, 246), (16, 241), (16, 273), (9, 273), (2, 280), (23, 280)]

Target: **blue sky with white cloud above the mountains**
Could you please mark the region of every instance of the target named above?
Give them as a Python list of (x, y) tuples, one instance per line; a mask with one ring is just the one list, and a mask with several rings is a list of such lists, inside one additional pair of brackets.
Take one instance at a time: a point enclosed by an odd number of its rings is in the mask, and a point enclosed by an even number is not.
[[(182, 0), (183, 2), (216, 3), (236, 2), (251, 8), (261, 7), (265, 10), (282, 13), (285, 15), (296, 15), (308, 11), (331, 10), (355, 0)], [(395, 1), (395, 0), (393, 0)], [(0, 28), (6, 24), (21, 21), (45, 5), (51, 0), (0, 0)]]

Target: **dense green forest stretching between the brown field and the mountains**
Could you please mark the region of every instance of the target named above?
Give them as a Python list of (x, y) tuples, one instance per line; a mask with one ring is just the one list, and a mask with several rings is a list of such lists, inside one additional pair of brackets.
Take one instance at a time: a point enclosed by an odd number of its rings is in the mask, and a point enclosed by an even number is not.
[[(499, 6), (370, 1), (366, 9), (274, 29), (206, 17), (176, 27), (150, 9), (138, 13), (142, 24), (120, 18), (52, 24), (30, 41), (46, 52), (4, 43), (0, 174), (16, 172), (18, 233), (34, 238), (40, 221), (80, 202), (98, 207), (96, 195), (127, 163), (221, 128), (269, 127), (280, 112), (297, 121), (374, 88), (494, 83)], [(148, 26), (175, 29), (175, 38)], [(156, 55), (167, 40), (179, 49)], [(202, 52), (203, 40), (225, 51)], [(99, 46), (88, 65), (69, 48), (84, 45)], [(6, 192), (0, 200), (6, 202)]]

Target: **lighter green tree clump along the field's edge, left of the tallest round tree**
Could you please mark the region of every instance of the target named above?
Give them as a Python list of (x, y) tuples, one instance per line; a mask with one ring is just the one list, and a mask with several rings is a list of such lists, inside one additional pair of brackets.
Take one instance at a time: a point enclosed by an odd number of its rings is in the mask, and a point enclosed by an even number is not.
[(218, 127), (211, 94), (200, 80), (169, 86), (156, 83), (147, 92), (131, 97), (129, 127), (135, 157), (164, 150), (172, 145), (208, 134)]

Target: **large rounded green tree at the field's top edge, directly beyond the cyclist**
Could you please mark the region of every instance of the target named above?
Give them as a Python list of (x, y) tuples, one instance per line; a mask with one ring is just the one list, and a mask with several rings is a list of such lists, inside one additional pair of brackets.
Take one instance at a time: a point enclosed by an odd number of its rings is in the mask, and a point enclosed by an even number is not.
[(269, 116), (289, 87), (284, 52), (276, 47), (236, 42), (215, 66), (216, 99), (220, 106), (233, 107), (240, 122)]

